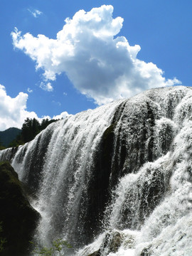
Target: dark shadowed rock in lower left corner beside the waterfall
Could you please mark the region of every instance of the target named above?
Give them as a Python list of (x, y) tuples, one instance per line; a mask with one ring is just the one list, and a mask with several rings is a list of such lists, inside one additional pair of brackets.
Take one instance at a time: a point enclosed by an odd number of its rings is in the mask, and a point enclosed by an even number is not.
[(40, 215), (31, 207), (18, 174), (8, 162), (0, 164), (0, 208), (1, 237), (6, 238), (1, 255), (27, 255)]

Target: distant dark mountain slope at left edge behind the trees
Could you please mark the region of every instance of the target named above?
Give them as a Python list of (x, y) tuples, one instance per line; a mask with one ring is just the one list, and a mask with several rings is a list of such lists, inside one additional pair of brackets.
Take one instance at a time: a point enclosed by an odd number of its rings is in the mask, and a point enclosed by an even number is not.
[(17, 135), (21, 133), (21, 129), (11, 127), (4, 132), (0, 132), (0, 142), (2, 146), (9, 146), (10, 142), (16, 139)]

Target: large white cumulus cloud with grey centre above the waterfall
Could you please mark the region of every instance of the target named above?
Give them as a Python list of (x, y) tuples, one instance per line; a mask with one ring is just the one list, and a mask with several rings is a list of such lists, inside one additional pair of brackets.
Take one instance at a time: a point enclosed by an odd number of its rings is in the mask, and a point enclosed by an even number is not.
[(113, 7), (103, 5), (91, 11), (78, 11), (66, 18), (56, 39), (31, 33), (12, 32), (14, 47), (21, 49), (43, 69), (45, 81), (66, 73), (73, 85), (98, 105), (130, 97), (142, 90), (181, 83), (166, 80), (154, 63), (137, 58), (140, 46), (130, 46), (117, 36), (123, 18), (112, 17)]

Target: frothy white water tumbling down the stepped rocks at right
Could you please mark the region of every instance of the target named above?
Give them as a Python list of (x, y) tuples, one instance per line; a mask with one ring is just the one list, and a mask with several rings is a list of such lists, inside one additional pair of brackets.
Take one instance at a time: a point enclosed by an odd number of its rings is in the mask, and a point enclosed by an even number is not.
[[(172, 92), (171, 96), (173, 95), (175, 92)], [(173, 99), (175, 111), (172, 119), (167, 118), (167, 105), (161, 104), (163, 114), (162, 117), (159, 115), (161, 118), (155, 124), (155, 150), (160, 158), (144, 164), (136, 174), (127, 174), (119, 179), (117, 188), (113, 191), (113, 200), (106, 210), (105, 219), (107, 230), (117, 230), (116, 232), (123, 234), (118, 250), (110, 252), (110, 246), (103, 247), (106, 231), (95, 242), (80, 250), (78, 255), (90, 255), (97, 250), (100, 250), (102, 256), (192, 255), (192, 95), (188, 92), (183, 99), (181, 95), (183, 96), (183, 92)], [(168, 102), (166, 95), (164, 98), (164, 102)], [(171, 139), (170, 136), (173, 142), (170, 151), (164, 155), (162, 144), (164, 139)], [(137, 223), (141, 203), (144, 196), (147, 196), (144, 190), (146, 188), (149, 191), (153, 183), (158, 181), (158, 174), (163, 176), (164, 196), (151, 214), (144, 217), (144, 223)], [(149, 201), (146, 198), (147, 203)], [(129, 209), (125, 221), (130, 216), (132, 220), (127, 224), (129, 230), (124, 229), (122, 221), (124, 209)], [(111, 233), (110, 238), (107, 238), (109, 245), (114, 236)]]

